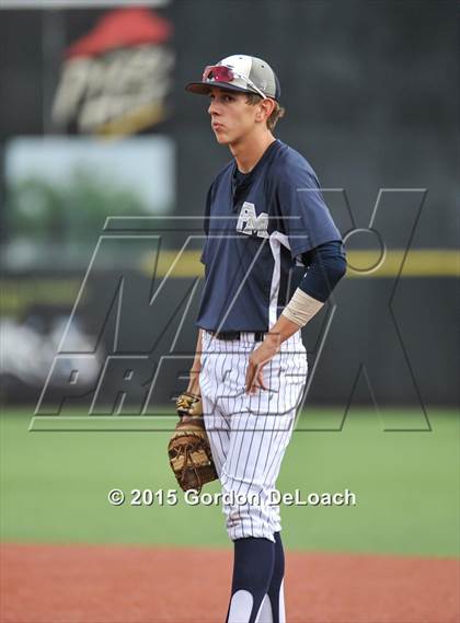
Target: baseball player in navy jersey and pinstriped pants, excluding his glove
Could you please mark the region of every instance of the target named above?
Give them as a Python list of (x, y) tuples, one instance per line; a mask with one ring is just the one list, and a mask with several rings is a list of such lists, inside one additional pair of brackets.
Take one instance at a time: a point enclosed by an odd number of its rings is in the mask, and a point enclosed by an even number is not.
[(286, 621), (272, 492), (307, 380), (301, 327), (346, 270), (342, 236), (307, 160), (276, 139), (271, 66), (229, 56), (186, 90), (209, 97), (232, 159), (206, 199), (205, 286), (187, 388), (202, 399), (234, 566), (227, 623)]

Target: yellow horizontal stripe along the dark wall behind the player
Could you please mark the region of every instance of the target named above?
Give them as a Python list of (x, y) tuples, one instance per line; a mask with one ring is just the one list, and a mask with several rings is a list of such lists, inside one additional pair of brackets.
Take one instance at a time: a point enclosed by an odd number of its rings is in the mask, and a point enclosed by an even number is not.
[[(395, 249), (380, 256), (378, 251), (363, 250), (347, 252), (347, 278), (395, 277), (400, 274), (404, 250)], [(199, 262), (200, 251), (163, 251), (158, 257), (156, 275), (172, 278), (203, 277), (204, 266)], [(141, 263), (141, 270), (152, 275), (156, 254), (148, 254)], [(401, 277), (460, 277), (460, 252), (445, 249), (416, 249), (410, 251)]]

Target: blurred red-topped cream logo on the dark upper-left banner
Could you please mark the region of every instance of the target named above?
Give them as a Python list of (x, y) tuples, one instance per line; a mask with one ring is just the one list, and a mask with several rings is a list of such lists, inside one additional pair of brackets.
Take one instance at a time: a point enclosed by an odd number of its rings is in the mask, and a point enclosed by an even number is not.
[(136, 134), (163, 120), (174, 56), (172, 25), (148, 9), (118, 9), (72, 44), (53, 117), (84, 134)]

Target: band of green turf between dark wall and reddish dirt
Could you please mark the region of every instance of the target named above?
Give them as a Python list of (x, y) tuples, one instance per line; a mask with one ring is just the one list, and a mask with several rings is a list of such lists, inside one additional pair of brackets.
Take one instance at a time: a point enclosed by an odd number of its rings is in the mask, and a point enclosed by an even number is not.
[[(76, 414), (78, 415), (78, 414)], [(336, 420), (315, 411), (299, 420)], [(383, 431), (371, 411), (349, 414), (342, 431), (296, 431), (278, 488), (350, 489), (349, 507), (281, 508), (288, 547), (455, 556), (459, 552), (459, 420), (432, 409), (433, 431)], [(390, 419), (411, 422), (393, 411)], [(31, 413), (1, 417), (1, 539), (14, 542), (156, 543), (229, 546), (220, 507), (112, 507), (119, 487), (175, 489), (169, 432), (30, 431)], [(218, 492), (218, 484), (206, 488)]]

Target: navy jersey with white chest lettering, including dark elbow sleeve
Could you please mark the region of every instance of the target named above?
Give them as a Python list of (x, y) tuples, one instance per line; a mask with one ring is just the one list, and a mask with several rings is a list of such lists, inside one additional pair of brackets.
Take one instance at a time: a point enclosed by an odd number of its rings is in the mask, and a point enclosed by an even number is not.
[(344, 273), (342, 236), (317, 175), (280, 140), (250, 173), (240, 173), (232, 160), (217, 175), (207, 194), (205, 232), (202, 328), (268, 331), (295, 287), (325, 300)]

